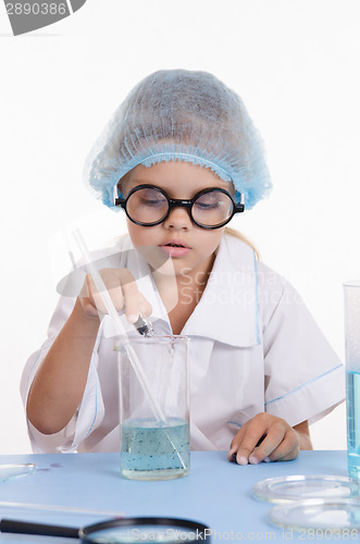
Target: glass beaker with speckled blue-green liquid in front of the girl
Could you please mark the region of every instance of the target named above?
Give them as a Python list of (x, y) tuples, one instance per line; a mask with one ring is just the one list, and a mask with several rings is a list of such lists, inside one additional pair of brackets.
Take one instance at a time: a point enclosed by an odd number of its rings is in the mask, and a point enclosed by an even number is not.
[[(125, 478), (167, 480), (189, 472), (188, 345), (186, 336), (137, 335), (127, 345), (119, 342), (115, 346), (121, 473)], [(129, 360), (128, 349), (137, 358), (147, 392)]]

